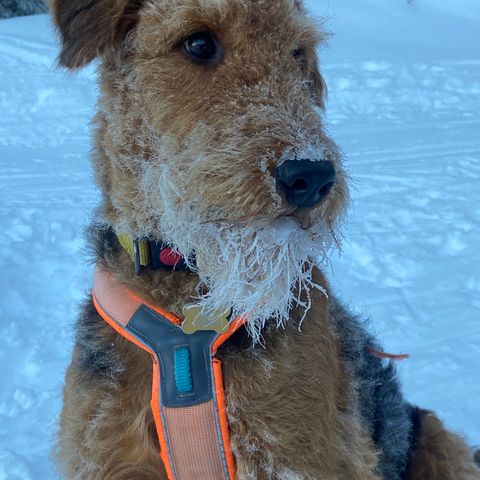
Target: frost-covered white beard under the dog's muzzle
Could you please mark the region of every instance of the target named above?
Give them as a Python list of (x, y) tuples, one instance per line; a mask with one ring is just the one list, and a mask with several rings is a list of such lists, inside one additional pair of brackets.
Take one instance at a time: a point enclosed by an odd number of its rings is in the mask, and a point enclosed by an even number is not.
[(198, 222), (188, 207), (166, 212), (171, 213), (161, 217), (163, 238), (185, 259), (195, 252), (195, 264), (187, 264), (200, 276), (199, 292), (207, 292), (199, 293), (196, 305), (207, 316), (231, 308), (233, 318), (246, 317), (254, 344), (262, 341), (267, 321), (282, 327), (293, 308), (300, 309), (301, 325), (312, 289), (325, 293), (313, 280), (315, 265), (332, 243), (320, 222), (303, 230), (291, 217), (232, 225)]

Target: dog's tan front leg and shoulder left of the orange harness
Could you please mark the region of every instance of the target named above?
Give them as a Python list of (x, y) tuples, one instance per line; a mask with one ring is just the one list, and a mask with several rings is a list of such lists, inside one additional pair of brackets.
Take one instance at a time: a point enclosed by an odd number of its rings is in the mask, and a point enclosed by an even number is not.
[(166, 480), (150, 395), (148, 354), (87, 306), (64, 387), (55, 452), (62, 478)]

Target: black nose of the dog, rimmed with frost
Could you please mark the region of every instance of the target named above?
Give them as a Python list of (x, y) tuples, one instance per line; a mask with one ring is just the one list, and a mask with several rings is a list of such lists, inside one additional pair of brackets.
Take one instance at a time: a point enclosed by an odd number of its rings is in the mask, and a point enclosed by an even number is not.
[(335, 185), (335, 167), (329, 161), (287, 160), (276, 170), (277, 190), (298, 208), (318, 205)]

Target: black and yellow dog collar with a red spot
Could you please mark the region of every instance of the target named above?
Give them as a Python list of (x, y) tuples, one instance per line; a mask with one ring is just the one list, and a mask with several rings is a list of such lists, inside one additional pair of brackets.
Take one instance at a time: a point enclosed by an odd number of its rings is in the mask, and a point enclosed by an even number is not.
[[(142, 267), (150, 270), (174, 270), (193, 273), (185, 259), (168, 245), (149, 239), (132, 239), (129, 235), (117, 235), (120, 245), (127, 251), (140, 275)], [(192, 256), (190, 264), (195, 263)]]

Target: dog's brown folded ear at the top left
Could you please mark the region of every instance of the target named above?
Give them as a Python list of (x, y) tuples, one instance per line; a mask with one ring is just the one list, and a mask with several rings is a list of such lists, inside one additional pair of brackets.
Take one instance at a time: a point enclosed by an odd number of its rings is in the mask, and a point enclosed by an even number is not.
[(143, 0), (51, 0), (61, 65), (79, 68), (119, 44), (138, 22)]

